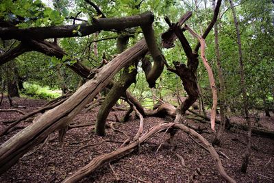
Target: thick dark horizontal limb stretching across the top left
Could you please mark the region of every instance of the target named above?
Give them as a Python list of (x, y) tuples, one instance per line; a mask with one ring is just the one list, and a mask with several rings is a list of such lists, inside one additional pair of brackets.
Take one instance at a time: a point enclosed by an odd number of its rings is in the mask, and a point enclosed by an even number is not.
[[(127, 16), (122, 18), (93, 19), (92, 25), (83, 23), (77, 25), (31, 27), (27, 29), (19, 29), (18, 27), (0, 27), (0, 38), (3, 40), (43, 40), (47, 38), (79, 37), (80, 35), (87, 36), (99, 30), (121, 30), (129, 27), (151, 25), (152, 22), (153, 14), (151, 12), (145, 12), (135, 16)], [(78, 32), (80, 32), (80, 34)]]

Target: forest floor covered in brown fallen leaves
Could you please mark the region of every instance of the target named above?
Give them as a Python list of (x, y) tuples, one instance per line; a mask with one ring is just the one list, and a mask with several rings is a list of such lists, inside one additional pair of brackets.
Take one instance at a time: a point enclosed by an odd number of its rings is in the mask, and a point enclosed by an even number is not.
[[(26, 107), (20, 109), (24, 112), (30, 112), (45, 103), (46, 101), (38, 99), (14, 99), (15, 105)], [(0, 109), (5, 108), (10, 108), (7, 99), (4, 99), (4, 103), (0, 106)], [(83, 110), (72, 123), (94, 123), (98, 110), (98, 107), (89, 112)], [(114, 114), (120, 119), (125, 111), (110, 112), (109, 123), (116, 120)], [(0, 132), (4, 127), (3, 121), (18, 119), (21, 115), (18, 112), (0, 112)], [(240, 117), (232, 117), (232, 121), (242, 123), (243, 120)], [(164, 122), (173, 122), (173, 119), (145, 118), (144, 132), (153, 125)], [(18, 126), (25, 127), (30, 123), (32, 122), (23, 122)], [(214, 138), (208, 124), (195, 121), (187, 121), (187, 123), (195, 127), (207, 127), (208, 130), (202, 135), (210, 142)], [(261, 115), (260, 124), (274, 131), (273, 114), (272, 117)], [(131, 117), (127, 123), (114, 123), (116, 129), (131, 137), (136, 134), (138, 126), (139, 120), (135, 117)], [(0, 144), (19, 130), (2, 136)], [(225, 171), (236, 182), (274, 182), (273, 138), (252, 136), (249, 167), (246, 174), (240, 173), (241, 157), (245, 150), (245, 134), (246, 132), (238, 129), (225, 132), (221, 147), (215, 147), (229, 157), (229, 160), (221, 157)], [(58, 132), (51, 134), (51, 139), (55, 136), (58, 136)], [(114, 132), (112, 128), (106, 130), (105, 137), (96, 136), (94, 126), (73, 128), (67, 132), (63, 148), (60, 147), (57, 138), (46, 143), (33, 154), (21, 158), (17, 164), (3, 173), (0, 182), (62, 182), (92, 158), (119, 148), (126, 138), (124, 134)], [(110, 162), (114, 171), (109, 163), (105, 163), (81, 182), (117, 182), (117, 180), (120, 182), (223, 182), (210, 154), (192, 141), (187, 134), (182, 131), (177, 132), (175, 149), (167, 143), (168, 138), (169, 134), (163, 132), (156, 134), (132, 154)], [(85, 145), (90, 146), (84, 147)], [(83, 148), (80, 149), (81, 147)], [(184, 158), (185, 166), (177, 155)]]

